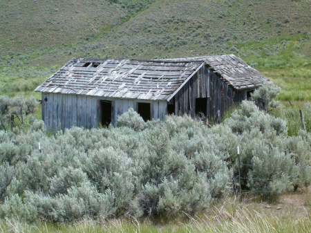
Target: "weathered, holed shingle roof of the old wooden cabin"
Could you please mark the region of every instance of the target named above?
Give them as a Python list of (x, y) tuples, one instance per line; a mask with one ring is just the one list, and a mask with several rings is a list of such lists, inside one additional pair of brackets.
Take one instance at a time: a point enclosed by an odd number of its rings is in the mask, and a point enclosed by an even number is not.
[(235, 55), (162, 60), (73, 58), (35, 91), (169, 100), (204, 65), (235, 89), (269, 82)]

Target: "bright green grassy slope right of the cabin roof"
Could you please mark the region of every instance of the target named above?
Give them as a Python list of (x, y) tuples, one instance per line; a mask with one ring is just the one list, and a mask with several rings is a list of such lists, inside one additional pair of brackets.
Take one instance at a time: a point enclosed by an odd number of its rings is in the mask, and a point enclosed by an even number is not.
[(278, 100), (310, 101), (310, 46), (310, 35), (292, 35), (241, 43), (237, 48), (249, 65), (281, 87)]

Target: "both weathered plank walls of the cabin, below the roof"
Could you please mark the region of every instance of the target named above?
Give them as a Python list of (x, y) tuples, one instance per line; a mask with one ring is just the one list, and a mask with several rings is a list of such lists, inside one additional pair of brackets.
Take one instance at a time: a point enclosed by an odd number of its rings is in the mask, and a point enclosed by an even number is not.
[[(234, 104), (240, 104), (246, 99), (246, 91), (236, 91), (228, 86), (219, 76), (207, 66), (202, 66), (171, 99), (176, 115), (196, 116), (196, 98), (207, 98), (207, 116), (218, 119)], [(47, 101), (45, 101), (47, 100)], [(133, 108), (137, 111), (138, 102), (147, 102), (151, 106), (151, 118), (164, 120), (167, 115), (166, 100), (133, 100), (109, 99), (88, 95), (66, 95), (57, 93), (42, 93), (42, 120), (49, 130), (68, 129), (70, 127), (97, 127), (100, 122), (100, 100), (111, 101), (111, 123), (117, 123), (117, 115)]]

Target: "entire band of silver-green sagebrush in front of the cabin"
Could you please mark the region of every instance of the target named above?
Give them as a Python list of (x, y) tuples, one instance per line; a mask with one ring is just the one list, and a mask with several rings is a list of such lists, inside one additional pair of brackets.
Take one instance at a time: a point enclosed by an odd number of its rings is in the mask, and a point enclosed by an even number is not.
[(0, 217), (200, 212), (237, 187), (238, 146), (243, 189), (273, 198), (310, 185), (310, 145), (310, 133), (288, 137), (284, 120), (248, 101), (211, 128), (188, 116), (144, 122), (133, 109), (118, 127), (54, 135), (35, 120), (27, 133), (0, 131)]

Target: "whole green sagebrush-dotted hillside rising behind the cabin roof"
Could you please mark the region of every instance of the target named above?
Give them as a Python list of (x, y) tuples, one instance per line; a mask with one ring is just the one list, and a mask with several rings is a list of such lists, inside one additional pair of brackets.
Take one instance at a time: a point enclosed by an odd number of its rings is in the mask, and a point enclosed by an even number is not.
[(311, 100), (310, 12), (308, 0), (7, 1), (0, 92), (32, 91), (72, 57), (234, 53), (279, 84), (281, 100)]

